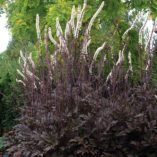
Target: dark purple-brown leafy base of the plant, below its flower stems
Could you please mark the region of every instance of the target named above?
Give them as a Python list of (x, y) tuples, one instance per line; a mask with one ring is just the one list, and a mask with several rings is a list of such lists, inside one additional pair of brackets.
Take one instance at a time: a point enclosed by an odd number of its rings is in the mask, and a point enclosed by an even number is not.
[(63, 85), (56, 88), (58, 96), (38, 96), (15, 127), (15, 151), (24, 156), (157, 155), (154, 91), (138, 87), (108, 97), (105, 87), (93, 85), (82, 85), (82, 92), (73, 87), (72, 98)]

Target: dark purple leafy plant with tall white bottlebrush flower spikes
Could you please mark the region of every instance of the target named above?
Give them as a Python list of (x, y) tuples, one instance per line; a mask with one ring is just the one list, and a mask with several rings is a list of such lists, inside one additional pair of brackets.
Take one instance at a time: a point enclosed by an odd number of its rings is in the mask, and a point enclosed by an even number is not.
[[(102, 50), (108, 51), (108, 45), (99, 47), (94, 57), (88, 52), (91, 27), (103, 3), (81, 31), (85, 32), (82, 41), (79, 35), (85, 7), (86, 4), (77, 15), (73, 8), (65, 33), (57, 19), (57, 40), (49, 31), (56, 47), (53, 55), (49, 54), (45, 28), (46, 51), (45, 57), (39, 55), (40, 67), (31, 55), (27, 57), (21, 52), (22, 69), (18, 73), (22, 79), (17, 81), (24, 86), (27, 105), (22, 107), (6, 147), (10, 153), (20, 151), (24, 157), (156, 156), (157, 101), (149, 73), (141, 70), (138, 85), (131, 82), (131, 56), (126, 69), (124, 52), (128, 45), (122, 43), (118, 61), (111, 73), (104, 76), (107, 62), (103, 55), (98, 55)], [(38, 22), (37, 16), (40, 40)]]

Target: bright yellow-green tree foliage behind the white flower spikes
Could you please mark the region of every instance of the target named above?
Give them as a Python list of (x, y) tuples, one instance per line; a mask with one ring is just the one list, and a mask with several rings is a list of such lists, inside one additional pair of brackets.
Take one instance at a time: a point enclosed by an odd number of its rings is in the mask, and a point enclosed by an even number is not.
[[(88, 7), (86, 10), (86, 16), (84, 19), (84, 25), (91, 18), (95, 9), (102, 2), (102, 0), (91, 0), (88, 1)], [(63, 28), (65, 28), (65, 21), (68, 19), (72, 5), (79, 5), (83, 3), (83, 0), (54, 0), (54, 1), (43, 1), (43, 0), (16, 0), (15, 2), (5, 2), (8, 7), (6, 9), (8, 15), (9, 27), (12, 32), (12, 41), (8, 47), (9, 55), (17, 58), (19, 56), (19, 50), (29, 50), (29, 43), (37, 45), (36, 31), (35, 31), (35, 16), (38, 13), (40, 15), (40, 27), (43, 31), (45, 24), (51, 26), (53, 29), (53, 35), (55, 36), (55, 21), (56, 17), (60, 18)], [(0, 4), (4, 4), (1, 2)], [(99, 19), (95, 22), (94, 29), (92, 32), (93, 41), (91, 49), (94, 50), (102, 41), (112, 40), (108, 38), (112, 36), (115, 30), (115, 36), (117, 42), (115, 44), (115, 50), (121, 45), (118, 45), (122, 33), (129, 27), (127, 20), (127, 13), (133, 8), (149, 8), (154, 6), (156, 2), (149, 1), (127, 1), (122, 3), (121, 0), (105, 0), (105, 7)], [(140, 6), (140, 7), (139, 7)], [(46, 20), (45, 20), (46, 19)], [(101, 29), (100, 29), (101, 24)], [(98, 32), (100, 29), (100, 33)], [(64, 29), (63, 29), (64, 30)], [(134, 38), (134, 37), (132, 37)], [(101, 40), (100, 40), (101, 39)], [(112, 42), (112, 41), (111, 41)], [(115, 51), (113, 50), (113, 52)], [(117, 52), (116, 52), (117, 53)]]

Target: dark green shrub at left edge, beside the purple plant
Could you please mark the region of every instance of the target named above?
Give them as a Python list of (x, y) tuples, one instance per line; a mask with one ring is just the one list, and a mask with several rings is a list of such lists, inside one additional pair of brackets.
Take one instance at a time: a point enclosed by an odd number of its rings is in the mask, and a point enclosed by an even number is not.
[(15, 125), (18, 107), (23, 103), (21, 90), (15, 82), (17, 63), (0, 55), (0, 135)]

